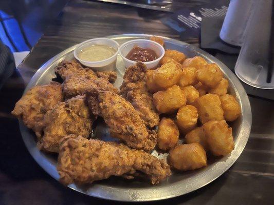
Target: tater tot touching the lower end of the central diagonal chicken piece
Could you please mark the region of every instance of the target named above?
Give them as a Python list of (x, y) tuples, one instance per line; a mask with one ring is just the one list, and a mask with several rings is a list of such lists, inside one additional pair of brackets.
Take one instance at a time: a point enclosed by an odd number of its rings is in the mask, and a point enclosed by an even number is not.
[(175, 122), (170, 118), (163, 117), (157, 130), (158, 147), (161, 150), (170, 150), (177, 145), (179, 130)]

